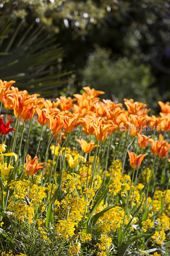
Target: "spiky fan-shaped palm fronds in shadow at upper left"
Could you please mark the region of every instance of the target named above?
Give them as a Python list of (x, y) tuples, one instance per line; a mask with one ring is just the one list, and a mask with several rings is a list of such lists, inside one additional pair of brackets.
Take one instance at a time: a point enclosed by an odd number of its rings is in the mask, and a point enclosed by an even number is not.
[(17, 87), (20, 90), (26, 89), (29, 93), (43, 91), (46, 97), (54, 92), (56, 94), (57, 90), (70, 83), (72, 73), (62, 72), (59, 67), (64, 50), (53, 36), (35, 22), (21, 36), (22, 25), (22, 22), (18, 24), (11, 38), (9, 36), (5, 39), (10, 25), (0, 34), (0, 44), (4, 49), (0, 49), (1, 79), (16, 80)]

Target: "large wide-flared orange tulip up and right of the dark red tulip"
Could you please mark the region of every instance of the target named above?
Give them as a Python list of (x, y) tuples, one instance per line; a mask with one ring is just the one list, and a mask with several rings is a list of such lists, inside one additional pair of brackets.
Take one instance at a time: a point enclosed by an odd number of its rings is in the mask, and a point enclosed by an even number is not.
[(13, 94), (12, 96), (9, 96), (9, 99), (12, 101), (12, 108), (16, 117), (24, 113), (28, 104), (34, 103), (32, 98), (24, 100), (22, 96), (18, 96), (17, 94)]

